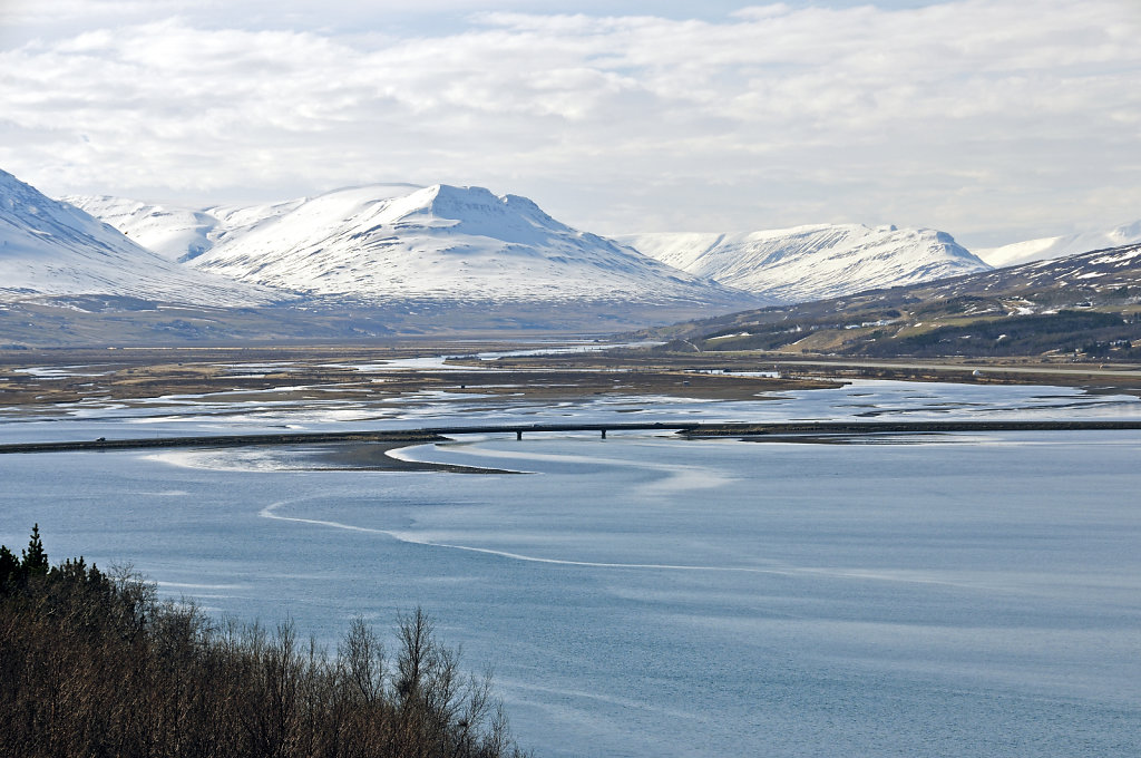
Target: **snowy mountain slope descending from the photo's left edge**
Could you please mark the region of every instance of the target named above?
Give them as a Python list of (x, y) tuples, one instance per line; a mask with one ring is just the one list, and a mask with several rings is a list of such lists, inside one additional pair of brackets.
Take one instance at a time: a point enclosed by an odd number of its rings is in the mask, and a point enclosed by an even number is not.
[(282, 297), (167, 260), (0, 171), (0, 300), (34, 295), (111, 295), (219, 306)]

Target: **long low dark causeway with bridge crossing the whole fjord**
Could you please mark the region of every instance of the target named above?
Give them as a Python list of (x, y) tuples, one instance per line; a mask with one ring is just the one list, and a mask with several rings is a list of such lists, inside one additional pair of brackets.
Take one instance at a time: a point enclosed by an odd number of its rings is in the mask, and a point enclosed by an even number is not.
[(774, 424), (656, 421), (652, 424), (494, 424), (477, 426), (422, 427), (363, 432), (308, 432), (284, 434), (197, 435), (123, 440), (71, 440), (25, 442), (0, 445), (5, 453), (46, 453), (83, 450), (146, 450), (156, 447), (249, 447), (331, 443), (423, 443), (439, 442), (468, 434), (525, 434), (594, 432), (673, 432), (690, 438), (702, 437), (783, 437), (804, 435), (938, 434), (984, 432), (1086, 432), (1141, 430), (1139, 420), (1068, 421), (785, 421)]

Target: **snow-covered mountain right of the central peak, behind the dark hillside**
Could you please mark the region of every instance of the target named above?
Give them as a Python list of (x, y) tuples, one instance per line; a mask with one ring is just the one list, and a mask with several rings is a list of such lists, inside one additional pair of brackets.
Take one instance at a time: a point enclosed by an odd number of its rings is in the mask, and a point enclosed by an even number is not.
[(989, 268), (944, 232), (859, 224), (739, 234), (628, 234), (616, 241), (690, 274), (800, 303)]

